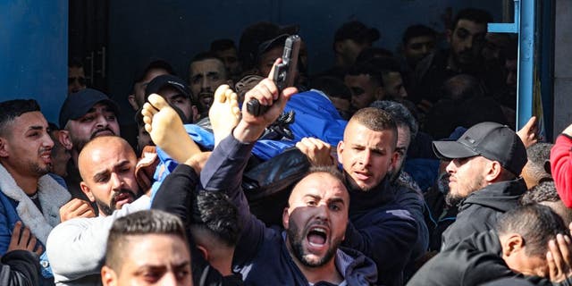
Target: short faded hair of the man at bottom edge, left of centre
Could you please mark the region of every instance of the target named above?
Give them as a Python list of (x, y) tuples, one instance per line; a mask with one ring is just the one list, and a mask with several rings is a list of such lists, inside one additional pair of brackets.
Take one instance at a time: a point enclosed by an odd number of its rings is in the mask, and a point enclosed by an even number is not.
[(107, 237), (105, 265), (120, 273), (122, 258), (129, 249), (128, 237), (146, 234), (175, 235), (187, 243), (185, 227), (177, 216), (159, 210), (139, 211), (115, 220)]

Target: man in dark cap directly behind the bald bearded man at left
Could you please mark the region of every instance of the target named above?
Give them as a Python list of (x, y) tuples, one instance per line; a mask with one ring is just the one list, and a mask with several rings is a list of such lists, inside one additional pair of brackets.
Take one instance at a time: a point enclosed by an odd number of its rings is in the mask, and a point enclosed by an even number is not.
[(68, 185), (72, 198), (88, 200), (80, 189), (78, 156), (89, 140), (103, 135), (120, 135), (117, 114), (119, 107), (104, 93), (85, 88), (65, 99), (60, 110), (60, 127), (69, 132), (71, 160), (68, 163)]

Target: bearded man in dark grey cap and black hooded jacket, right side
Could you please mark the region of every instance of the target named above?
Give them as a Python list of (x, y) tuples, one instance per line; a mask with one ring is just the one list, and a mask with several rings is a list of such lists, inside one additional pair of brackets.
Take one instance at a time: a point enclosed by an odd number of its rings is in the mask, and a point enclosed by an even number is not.
[(456, 141), (433, 141), (433, 151), (448, 160), (449, 206), (458, 206), (457, 220), (442, 236), (442, 249), (467, 236), (491, 230), (498, 217), (518, 206), (526, 191), (518, 178), (526, 164), (526, 148), (515, 131), (495, 122), (469, 128)]

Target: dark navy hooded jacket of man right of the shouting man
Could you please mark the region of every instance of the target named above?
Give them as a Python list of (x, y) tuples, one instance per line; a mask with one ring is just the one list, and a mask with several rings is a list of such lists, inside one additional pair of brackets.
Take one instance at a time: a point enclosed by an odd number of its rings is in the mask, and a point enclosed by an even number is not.
[(378, 283), (402, 285), (403, 270), (417, 241), (417, 224), (400, 206), (399, 192), (391, 186), (389, 176), (367, 192), (349, 190), (349, 221), (342, 245), (354, 248), (377, 265)]

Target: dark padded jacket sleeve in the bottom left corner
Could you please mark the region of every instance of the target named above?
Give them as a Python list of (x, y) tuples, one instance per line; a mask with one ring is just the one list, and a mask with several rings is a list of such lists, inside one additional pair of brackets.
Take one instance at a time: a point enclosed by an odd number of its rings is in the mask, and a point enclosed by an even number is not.
[(0, 263), (0, 285), (39, 285), (38, 256), (26, 250), (13, 250), (2, 257)]

